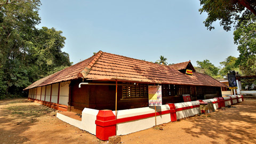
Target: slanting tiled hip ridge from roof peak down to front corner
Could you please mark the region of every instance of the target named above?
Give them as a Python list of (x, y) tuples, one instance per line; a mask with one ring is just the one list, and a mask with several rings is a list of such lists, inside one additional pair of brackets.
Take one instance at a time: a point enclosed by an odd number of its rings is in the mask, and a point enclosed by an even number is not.
[(87, 67), (84, 68), (84, 70), (81, 71), (81, 73), (78, 73), (77, 76), (78, 77), (86, 77), (90, 70), (92, 69), (93, 65), (99, 60), (99, 58), (102, 55), (102, 51), (97, 52), (96, 54), (94, 54), (94, 58), (92, 59), (92, 61), (87, 65)]

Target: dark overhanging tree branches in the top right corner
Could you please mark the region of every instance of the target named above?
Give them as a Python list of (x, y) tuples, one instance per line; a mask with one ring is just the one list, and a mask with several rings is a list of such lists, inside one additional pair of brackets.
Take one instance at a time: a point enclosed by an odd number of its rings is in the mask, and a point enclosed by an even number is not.
[(254, 0), (199, 0), (202, 8), (199, 12), (208, 13), (204, 21), (205, 27), (214, 29), (212, 23), (220, 20), (220, 26), (226, 31), (231, 25), (239, 25), (239, 22), (247, 21), (252, 15), (256, 15), (256, 1)]

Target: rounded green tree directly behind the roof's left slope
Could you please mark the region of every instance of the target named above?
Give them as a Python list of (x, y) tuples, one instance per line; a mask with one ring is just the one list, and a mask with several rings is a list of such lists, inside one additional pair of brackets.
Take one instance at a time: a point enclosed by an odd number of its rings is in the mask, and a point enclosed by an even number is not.
[(42, 29), (34, 30), (32, 41), (34, 45), (28, 53), (30, 57), (28, 60), (38, 66), (39, 74), (41, 74), (38, 78), (51, 74), (52, 69), (71, 65), (69, 54), (61, 51), (65, 46), (65, 39), (62, 31), (54, 28), (42, 27)]

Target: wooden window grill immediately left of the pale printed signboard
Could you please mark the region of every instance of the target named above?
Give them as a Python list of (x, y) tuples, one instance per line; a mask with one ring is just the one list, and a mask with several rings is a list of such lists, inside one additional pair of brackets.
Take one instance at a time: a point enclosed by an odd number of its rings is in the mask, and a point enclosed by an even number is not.
[(123, 82), (122, 86), (122, 98), (129, 99), (129, 98), (148, 98), (148, 84), (140, 84), (136, 83), (126, 83)]

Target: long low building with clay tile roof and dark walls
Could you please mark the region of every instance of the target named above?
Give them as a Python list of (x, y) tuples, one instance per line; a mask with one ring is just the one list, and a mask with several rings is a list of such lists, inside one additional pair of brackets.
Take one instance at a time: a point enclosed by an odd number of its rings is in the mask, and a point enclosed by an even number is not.
[[(62, 111), (148, 107), (148, 86), (161, 85), (163, 104), (221, 97), (216, 79), (197, 73), (190, 61), (171, 66), (99, 51), (26, 87), (28, 98)], [(116, 89), (117, 87), (117, 89)], [(116, 99), (116, 96), (117, 99)]]

